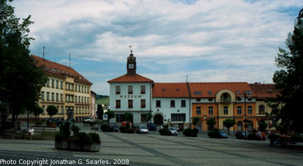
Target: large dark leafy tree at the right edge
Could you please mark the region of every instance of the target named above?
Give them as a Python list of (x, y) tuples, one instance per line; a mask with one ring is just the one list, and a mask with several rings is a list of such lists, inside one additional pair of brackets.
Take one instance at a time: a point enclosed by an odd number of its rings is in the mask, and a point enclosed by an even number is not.
[(267, 103), (273, 108), (271, 116), (277, 118), (279, 128), (284, 131), (303, 132), (303, 111), (301, 98), (303, 94), (303, 30), (295, 28), (286, 39), (288, 50), (279, 48), (273, 81), (280, 91), (277, 98)]

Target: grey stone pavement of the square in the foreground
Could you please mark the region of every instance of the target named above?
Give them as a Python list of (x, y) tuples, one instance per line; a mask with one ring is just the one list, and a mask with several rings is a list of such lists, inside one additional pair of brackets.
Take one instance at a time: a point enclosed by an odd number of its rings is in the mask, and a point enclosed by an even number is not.
[[(89, 161), (122, 161), (120, 165), (302, 165), (301, 144), (293, 148), (270, 147), (269, 141), (207, 137), (124, 134), (98, 131), (99, 152), (55, 149), (54, 140), (0, 138), (0, 159), (18, 156)], [(18, 158), (17, 157), (17, 158)], [(125, 161), (128, 161), (128, 164)], [(121, 162), (120, 162), (121, 163)], [(64, 164), (67, 165), (67, 164)]]

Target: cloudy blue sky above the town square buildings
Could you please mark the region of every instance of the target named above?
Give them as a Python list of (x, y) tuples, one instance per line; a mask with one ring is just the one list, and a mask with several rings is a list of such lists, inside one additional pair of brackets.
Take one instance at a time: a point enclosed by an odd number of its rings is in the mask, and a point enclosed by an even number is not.
[(126, 74), (132, 45), (137, 73), (154, 82), (273, 83), (279, 47), (303, 1), (15, 0), (31, 15), (30, 54), (71, 67), (109, 95)]

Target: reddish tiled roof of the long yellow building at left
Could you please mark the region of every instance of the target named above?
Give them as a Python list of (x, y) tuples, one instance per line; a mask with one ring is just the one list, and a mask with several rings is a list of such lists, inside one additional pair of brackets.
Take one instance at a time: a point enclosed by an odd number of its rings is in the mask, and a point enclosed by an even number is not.
[(73, 76), (75, 81), (77, 82), (82, 82), (84, 84), (92, 85), (90, 81), (88, 81), (86, 78), (84, 78), (81, 74), (79, 74), (76, 70), (74, 70), (71, 67), (35, 55), (30, 55), (30, 57), (38, 61), (36, 66), (44, 66), (43, 71), (48, 74), (52, 74), (64, 78), (67, 77), (67, 75), (70, 75)]

